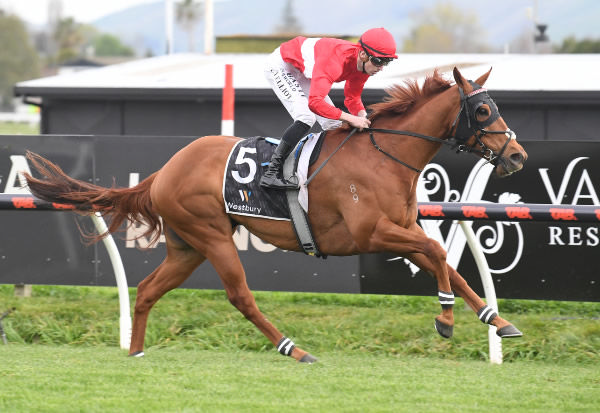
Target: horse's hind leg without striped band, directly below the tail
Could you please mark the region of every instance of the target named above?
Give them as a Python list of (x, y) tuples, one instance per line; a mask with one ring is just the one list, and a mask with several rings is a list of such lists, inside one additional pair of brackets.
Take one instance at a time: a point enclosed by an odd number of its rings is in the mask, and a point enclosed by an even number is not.
[(144, 337), (148, 314), (158, 299), (179, 287), (204, 260), (199, 252), (185, 244), (172, 230), (165, 227), (167, 257), (137, 288), (130, 356), (144, 355)]

